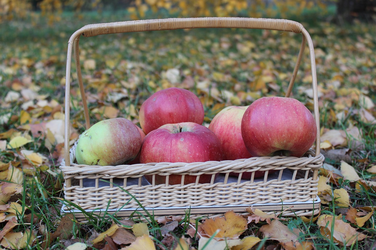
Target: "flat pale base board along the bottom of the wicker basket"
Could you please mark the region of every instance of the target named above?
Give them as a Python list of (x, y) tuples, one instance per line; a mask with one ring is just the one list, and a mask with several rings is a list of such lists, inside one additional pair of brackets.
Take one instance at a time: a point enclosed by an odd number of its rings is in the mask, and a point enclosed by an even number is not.
[[(87, 221), (88, 215), (94, 217), (109, 217), (113, 215), (116, 217), (140, 217), (142, 215), (147, 217), (146, 211), (149, 214), (155, 216), (155, 219), (170, 215), (185, 215), (187, 212), (190, 213), (190, 218), (198, 217), (217, 217), (223, 215), (227, 211), (234, 212), (245, 212), (246, 208), (260, 209), (268, 214), (288, 216), (311, 216), (316, 215), (320, 211), (320, 198), (316, 196), (315, 200), (308, 200), (306, 202), (291, 202), (291, 203), (264, 203), (264, 204), (252, 204), (249, 205), (226, 205), (226, 206), (196, 206), (191, 208), (181, 208), (181, 207), (158, 207), (158, 208), (123, 208), (123, 209), (85, 209), (83, 211), (78, 209), (70, 209), (66, 204), (63, 204), (61, 208), (62, 214), (74, 214), (78, 221)], [(248, 214), (248, 212), (245, 212)]]

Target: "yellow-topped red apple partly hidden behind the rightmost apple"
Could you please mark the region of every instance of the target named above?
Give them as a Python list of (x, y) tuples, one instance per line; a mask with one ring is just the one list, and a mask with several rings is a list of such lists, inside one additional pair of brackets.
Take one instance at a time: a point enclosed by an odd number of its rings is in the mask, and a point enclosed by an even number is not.
[[(223, 160), (237, 160), (251, 158), (244, 145), (241, 136), (241, 119), (248, 106), (229, 106), (223, 108), (214, 116), (209, 124), (209, 129), (218, 137), (221, 142)], [(230, 172), (232, 176), (239, 176), (239, 173)], [(244, 172), (242, 178), (251, 178), (252, 173)], [(264, 171), (256, 171), (254, 177), (264, 176)]]

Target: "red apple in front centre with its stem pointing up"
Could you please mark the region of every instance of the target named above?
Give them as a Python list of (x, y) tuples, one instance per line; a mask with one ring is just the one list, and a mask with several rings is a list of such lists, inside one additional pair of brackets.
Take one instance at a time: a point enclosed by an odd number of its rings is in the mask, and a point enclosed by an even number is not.
[[(140, 163), (221, 161), (222, 150), (217, 136), (203, 125), (194, 122), (165, 124), (146, 135), (140, 151)], [(185, 175), (184, 184), (196, 182), (194, 175)], [(201, 175), (199, 183), (210, 183), (212, 175)], [(145, 178), (150, 183), (152, 175)], [(157, 185), (166, 177), (155, 176)], [(181, 175), (171, 174), (168, 183), (181, 183)]]

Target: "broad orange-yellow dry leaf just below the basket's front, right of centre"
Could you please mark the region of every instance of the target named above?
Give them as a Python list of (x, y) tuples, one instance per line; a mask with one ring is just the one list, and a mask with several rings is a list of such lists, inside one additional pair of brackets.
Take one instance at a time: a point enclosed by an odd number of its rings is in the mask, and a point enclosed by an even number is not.
[(202, 223), (201, 228), (209, 236), (215, 238), (238, 238), (247, 229), (247, 220), (233, 211), (228, 211), (224, 217), (210, 218)]

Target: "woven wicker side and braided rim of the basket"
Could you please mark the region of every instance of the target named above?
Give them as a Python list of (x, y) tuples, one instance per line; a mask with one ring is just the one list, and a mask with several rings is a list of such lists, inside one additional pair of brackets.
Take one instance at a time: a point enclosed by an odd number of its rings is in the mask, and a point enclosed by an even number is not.
[[(70, 179), (71, 187), (64, 187), (65, 199), (76, 203), (83, 209), (134, 208), (138, 203), (127, 193), (132, 194), (143, 206), (187, 207), (212, 205), (252, 205), (255, 203), (291, 203), (312, 200), (317, 194), (318, 178), (313, 179), (312, 170), (318, 170), (323, 164), (323, 155), (314, 156), (308, 151), (305, 157), (253, 157), (235, 161), (209, 161), (205, 163), (148, 163), (118, 166), (87, 166), (75, 164), (76, 145), (70, 150), (71, 166), (62, 161), (61, 170), (65, 180)], [(237, 182), (228, 182), (229, 172), (255, 172), (278, 170), (275, 179), (263, 181), (251, 178)], [(292, 178), (281, 179), (284, 171), (290, 171)], [(223, 182), (187, 185), (141, 185), (143, 175), (196, 175), (223, 173)], [(227, 177), (227, 178), (226, 178)], [(129, 178), (138, 178), (138, 185), (127, 185)], [(85, 187), (84, 179), (95, 183)], [(108, 180), (100, 186), (100, 180)], [(122, 185), (113, 184), (121, 179)], [(102, 182), (103, 183), (103, 182)], [(125, 192), (124, 190), (127, 192)], [(111, 202), (109, 203), (109, 201)], [(108, 206), (108, 204), (110, 204)]]

